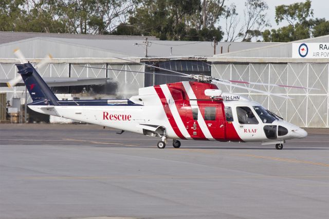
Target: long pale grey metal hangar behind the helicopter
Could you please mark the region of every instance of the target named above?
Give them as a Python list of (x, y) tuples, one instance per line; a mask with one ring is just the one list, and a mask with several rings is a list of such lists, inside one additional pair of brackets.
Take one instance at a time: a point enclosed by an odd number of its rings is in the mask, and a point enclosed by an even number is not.
[[(51, 53), (53, 59), (40, 69), (43, 77), (109, 78), (116, 86), (109, 84), (107, 94), (120, 98), (129, 98), (140, 87), (180, 81), (177, 77), (129, 72), (159, 71), (117, 59), (128, 58), (188, 74), (318, 88), (296, 90), (254, 86), (294, 98), (283, 100), (266, 94), (246, 93), (244, 89), (231, 86), (221, 87), (227, 92), (239, 93), (260, 102), (296, 125), (329, 127), (329, 59), (293, 58), (293, 44), (327, 42), (329, 35), (289, 43), (218, 42), (214, 54), (212, 42), (159, 41), (154, 37), (145, 39), (144, 36), (0, 32), (0, 80), (17, 76), (14, 65), (17, 60), (13, 50), (20, 48), (33, 63), (41, 62), (47, 53)], [(117, 70), (87, 68), (90, 66)], [(53, 90), (57, 93), (83, 92), (82, 89), (70, 87)], [(25, 96), (24, 87), (2, 87), (0, 92), (5, 92), (9, 100), (12, 97), (24, 100)]]

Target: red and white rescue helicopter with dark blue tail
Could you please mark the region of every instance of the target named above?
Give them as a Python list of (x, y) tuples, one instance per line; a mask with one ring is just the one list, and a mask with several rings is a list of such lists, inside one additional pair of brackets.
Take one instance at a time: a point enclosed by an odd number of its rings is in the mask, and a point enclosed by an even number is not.
[[(154, 65), (143, 65), (168, 70)], [(262, 90), (233, 84), (265, 85), (263, 83), (216, 79), (211, 76), (188, 75), (168, 70), (178, 74), (177, 77), (190, 81), (139, 88), (138, 95), (129, 99), (59, 100), (31, 63), (22, 62), (16, 66), (32, 98), (28, 107), (33, 111), (112, 127), (121, 130), (118, 134), (130, 131), (158, 137), (159, 149), (165, 148), (169, 139), (173, 140), (174, 148), (179, 148), (179, 140), (184, 139), (261, 142), (262, 145), (275, 144), (276, 149), (281, 150), (286, 140), (307, 136), (306, 131), (284, 121), (261, 104), (240, 95), (224, 93), (217, 86), (230, 85), (268, 94)], [(311, 89), (278, 84), (266, 85)], [(278, 94), (270, 95), (289, 98)]]

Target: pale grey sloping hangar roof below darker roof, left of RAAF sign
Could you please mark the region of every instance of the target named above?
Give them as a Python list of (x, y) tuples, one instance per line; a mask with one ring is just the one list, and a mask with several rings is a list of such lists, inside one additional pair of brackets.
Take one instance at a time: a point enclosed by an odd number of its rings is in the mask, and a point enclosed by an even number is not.
[[(1, 36), (0, 32), (0, 36)], [(53, 38), (37, 37), (0, 44), (0, 58), (14, 58), (13, 49), (20, 48), (27, 58), (43, 58), (51, 53), (55, 58), (145, 57), (143, 37), (136, 39)], [(218, 42), (216, 53), (239, 51), (278, 43)], [(222, 49), (221, 49), (222, 47)], [(30, 57), (28, 57), (30, 54)], [(212, 42), (159, 41), (149, 39), (148, 57), (213, 56)]]

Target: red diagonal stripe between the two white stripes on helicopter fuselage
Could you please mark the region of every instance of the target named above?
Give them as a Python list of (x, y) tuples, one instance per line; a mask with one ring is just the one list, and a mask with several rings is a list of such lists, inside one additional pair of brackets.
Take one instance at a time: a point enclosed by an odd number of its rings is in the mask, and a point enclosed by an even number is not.
[[(200, 129), (199, 123), (197, 121), (193, 120), (193, 113), (192, 113), (192, 107), (190, 105), (189, 97), (186, 93), (186, 90), (184, 88), (184, 85), (181, 82), (177, 82), (174, 84), (174, 88), (168, 84), (171, 96), (173, 97), (175, 101), (175, 105), (177, 108), (177, 111), (179, 113), (180, 119), (183, 122), (185, 127), (188, 127), (186, 129), (188, 133), (190, 134), (191, 138), (194, 140), (207, 140), (204, 133)], [(176, 88), (176, 90), (175, 90)], [(177, 95), (177, 91), (182, 93), (182, 99), (179, 95)], [(184, 100), (185, 99), (185, 100)], [(190, 122), (193, 123), (191, 124)], [(196, 125), (197, 130), (193, 130), (193, 125)], [(194, 132), (196, 132), (196, 135), (193, 135)]]

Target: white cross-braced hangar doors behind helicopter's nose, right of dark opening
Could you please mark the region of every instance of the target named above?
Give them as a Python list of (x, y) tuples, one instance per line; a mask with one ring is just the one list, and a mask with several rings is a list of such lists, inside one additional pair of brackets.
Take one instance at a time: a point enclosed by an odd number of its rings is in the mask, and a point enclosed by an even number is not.
[(220, 79), (260, 83), (288, 84), (317, 88), (296, 88), (247, 85), (265, 92), (288, 95), (294, 99), (248, 92), (246, 89), (222, 85), (225, 92), (244, 95), (261, 103), (286, 121), (301, 127), (329, 127), (329, 67), (328, 63), (213, 63), (212, 76)]

